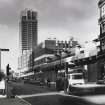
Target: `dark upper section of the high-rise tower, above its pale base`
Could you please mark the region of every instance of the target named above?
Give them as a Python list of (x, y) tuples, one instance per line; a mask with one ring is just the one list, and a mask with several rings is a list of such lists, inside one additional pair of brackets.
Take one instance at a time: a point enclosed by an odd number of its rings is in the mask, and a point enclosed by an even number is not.
[(37, 45), (37, 12), (25, 9), (20, 18), (20, 50), (33, 51)]

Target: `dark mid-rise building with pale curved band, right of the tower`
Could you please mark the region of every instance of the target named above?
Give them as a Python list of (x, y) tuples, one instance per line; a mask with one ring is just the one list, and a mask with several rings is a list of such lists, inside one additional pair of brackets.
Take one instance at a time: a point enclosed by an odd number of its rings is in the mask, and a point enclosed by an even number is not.
[[(34, 72), (36, 78), (55, 82), (57, 75), (65, 75), (68, 56), (75, 55), (77, 41), (45, 40), (35, 49)], [(72, 59), (70, 57), (70, 60)], [(69, 61), (70, 61), (69, 60)]]

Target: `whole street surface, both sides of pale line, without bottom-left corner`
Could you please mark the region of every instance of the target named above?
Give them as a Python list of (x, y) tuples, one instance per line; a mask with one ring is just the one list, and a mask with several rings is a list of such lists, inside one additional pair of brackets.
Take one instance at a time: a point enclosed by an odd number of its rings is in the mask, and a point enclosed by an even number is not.
[[(31, 105), (105, 105), (105, 95), (75, 96), (27, 83), (11, 83), (17, 97)], [(6, 104), (5, 104), (6, 105)]]

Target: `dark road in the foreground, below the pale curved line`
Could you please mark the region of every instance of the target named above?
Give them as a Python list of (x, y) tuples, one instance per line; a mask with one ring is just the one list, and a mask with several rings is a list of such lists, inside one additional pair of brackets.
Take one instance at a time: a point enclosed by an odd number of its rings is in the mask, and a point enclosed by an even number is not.
[(24, 100), (32, 105), (96, 105), (75, 96), (63, 94), (45, 94), (42, 96), (27, 97)]

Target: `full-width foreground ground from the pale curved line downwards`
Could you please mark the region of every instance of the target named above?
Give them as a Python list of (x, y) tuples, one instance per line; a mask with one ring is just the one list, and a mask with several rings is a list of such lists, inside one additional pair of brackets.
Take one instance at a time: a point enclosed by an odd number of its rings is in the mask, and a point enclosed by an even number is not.
[(80, 97), (65, 94), (63, 91), (5, 97), (0, 96), (0, 105), (105, 105), (105, 95)]

